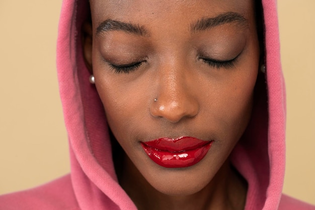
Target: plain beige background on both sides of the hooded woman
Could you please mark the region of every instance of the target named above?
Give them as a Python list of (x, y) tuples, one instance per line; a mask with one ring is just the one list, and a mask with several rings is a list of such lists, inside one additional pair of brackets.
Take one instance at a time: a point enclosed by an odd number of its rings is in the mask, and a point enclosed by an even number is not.
[[(69, 171), (55, 73), (60, 6), (0, 2), (0, 194)], [(284, 192), (315, 204), (315, 1), (278, 6), (288, 112)]]

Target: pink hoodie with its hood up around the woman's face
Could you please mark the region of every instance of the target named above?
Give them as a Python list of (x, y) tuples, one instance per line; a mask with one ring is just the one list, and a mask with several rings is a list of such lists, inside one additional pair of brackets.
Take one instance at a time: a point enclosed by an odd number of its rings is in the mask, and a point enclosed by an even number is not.
[[(71, 173), (34, 189), (1, 196), (1, 210), (136, 209), (118, 184), (103, 105), (89, 83), (82, 57), (78, 37), (87, 9), (88, 1), (63, 1), (57, 43), (58, 80), (69, 137)], [(232, 152), (231, 160), (248, 182), (246, 210), (315, 210), (315, 206), (282, 194), (286, 107), (276, 1), (263, 0), (263, 10), (267, 91), (261, 91), (249, 127)]]

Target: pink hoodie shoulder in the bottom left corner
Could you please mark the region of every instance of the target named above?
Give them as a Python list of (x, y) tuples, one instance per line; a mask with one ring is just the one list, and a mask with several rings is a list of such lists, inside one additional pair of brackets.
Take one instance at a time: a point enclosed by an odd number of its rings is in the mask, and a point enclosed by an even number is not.
[(42, 186), (0, 196), (2, 210), (80, 210), (70, 175)]

